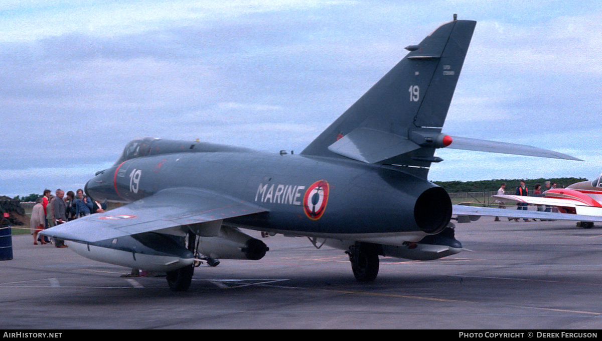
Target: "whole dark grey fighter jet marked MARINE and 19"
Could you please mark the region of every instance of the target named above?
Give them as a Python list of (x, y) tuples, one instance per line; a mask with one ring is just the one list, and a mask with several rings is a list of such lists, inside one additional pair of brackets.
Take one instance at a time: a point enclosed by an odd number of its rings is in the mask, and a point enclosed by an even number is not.
[[(145, 138), (88, 181), (119, 208), (43, 231), (84, 257), (166, 272), (187, 290), (205, 259), (259, 260), (268, 247), (241, 229), (308, 237), (343, 249), (359, 281), (379, 255), (433, 260), (461, 251), (452, 202), (427, 181), (435, 149), (573, 159), (544, 149), (441, 133), (476, 22), (445, 23), (300, 154)], [(479, 213), (480, 214), (480, 213)], [(498, 215), (496, 213), (495, 215)]]

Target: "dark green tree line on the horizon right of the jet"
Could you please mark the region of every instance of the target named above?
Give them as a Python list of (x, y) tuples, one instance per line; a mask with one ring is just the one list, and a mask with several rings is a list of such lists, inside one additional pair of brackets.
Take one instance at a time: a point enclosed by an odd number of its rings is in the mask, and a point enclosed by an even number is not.
[(443, 187), (448, 193), (458, 192), (497, 192), (501, 183), (506, 183), (506, 193), (514, 193), (514, 190), (520, 186), (520, 181), (524, 180), (527, 188), (532, 190), (535, 184), (541, 184), (542, 191), (545, 190), (545, 181), (556, 183), (556, 188), (563, 188), (574, 183), (587, 181), (586, 178), (550, 178), (550, 179), (493, 179), (478, 181), (433, 181), (437, 186)]

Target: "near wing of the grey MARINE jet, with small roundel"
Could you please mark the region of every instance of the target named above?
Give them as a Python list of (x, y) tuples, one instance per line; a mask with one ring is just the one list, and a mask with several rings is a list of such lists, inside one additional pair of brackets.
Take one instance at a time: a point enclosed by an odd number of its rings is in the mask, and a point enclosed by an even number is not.
[(167, 189), (105, 213), (49, 228), (42, 234), (78, 242), (99, 242), (188, 226), (194, 227), (200, 236), (211, 237), (218, 233), (221, 225), (214, 222), (265, 211), (240, 199), (208, 190)]

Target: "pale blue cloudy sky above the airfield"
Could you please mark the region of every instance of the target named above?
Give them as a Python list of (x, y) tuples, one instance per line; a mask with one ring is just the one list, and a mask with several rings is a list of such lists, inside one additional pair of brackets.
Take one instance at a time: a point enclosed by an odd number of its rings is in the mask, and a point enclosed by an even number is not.
[[(503, 3), (503, 5), (500, 5)], [(430, 180), (602, 172), (598, 1), (0, 3), (0, 195), (82, 188), (144, 136), (301, 151), (436, 27), (477, 20)]]

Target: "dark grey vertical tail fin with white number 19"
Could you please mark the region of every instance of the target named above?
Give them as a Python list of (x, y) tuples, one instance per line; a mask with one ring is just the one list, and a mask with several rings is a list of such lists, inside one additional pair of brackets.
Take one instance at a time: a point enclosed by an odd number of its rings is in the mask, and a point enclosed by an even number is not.
[(453, 20), (408, 46), (409, 54), (301, 154), (423, 169), (440, 160), (424, 141), (441, 133), (475, 25)]

